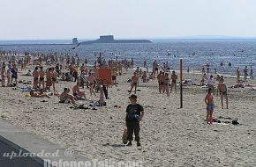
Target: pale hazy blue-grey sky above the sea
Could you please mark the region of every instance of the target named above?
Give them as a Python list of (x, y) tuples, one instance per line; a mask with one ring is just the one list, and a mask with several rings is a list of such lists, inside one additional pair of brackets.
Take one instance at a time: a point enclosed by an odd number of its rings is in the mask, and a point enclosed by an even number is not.
[(0, 40), (256, 37), (256, 0), (0, 0)]

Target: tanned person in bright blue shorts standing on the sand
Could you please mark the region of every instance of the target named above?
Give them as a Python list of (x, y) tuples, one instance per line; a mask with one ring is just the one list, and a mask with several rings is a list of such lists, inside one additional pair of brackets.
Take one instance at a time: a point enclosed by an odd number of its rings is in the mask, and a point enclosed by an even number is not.
[(215, 108), (214, 94), (212, 92), (212, 88), (208, 89), (208, 93), (205, 98), (205, 103), (207, 105), (207, 124), (212, 124), (213, 112), (214, 112), (214, 108)]

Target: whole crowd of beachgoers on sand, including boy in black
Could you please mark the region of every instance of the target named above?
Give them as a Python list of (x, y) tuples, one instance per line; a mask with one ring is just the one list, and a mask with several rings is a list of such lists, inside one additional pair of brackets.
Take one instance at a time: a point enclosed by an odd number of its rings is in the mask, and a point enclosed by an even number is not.
[[(1, 83), (3, 87), (18, 85), (18, 68), (20, 71), (26, 71), (27, 68), (34, 66), (34, 70), (28, 72), (26, 75), (33, 77), (33, 87), (30, 90), (30, 97), (32, 98), (51, 98), (55, 95), (59, 98), (60, 103), (68, 103), (72, 105), (78, 105), (78, 100), (87, 100), (87, 89), (90, 96), (96, 96), (99, 93), (98, 106), (106, 105), (105, 99), (109, 99), (108, 89), (112, 85), (117, 85), (117, 76), (123, 76), (124, 70), (132, 69), (135, 66), (133, 58), (131, 61), (123, 60), (105, 60), (102, 58), (102, 54), (97, 57), (94, 65), (89, 68), (87, 58), (82, 62), (79, 56), (68, 55), (57, 56), (54, 54), (33, 54), (26, 52), (24, 55), (17, 53), (3, 52), (0, 53), (0, 58), (3, 61), (1, 63)], [(33, 61), (33, 62), (32, 62)], [(7, 62), (7, 63), (6, 63)], [(30, 66), (28, 66), (30, 65)], [(111, 69), (111, 83), (106, 83), (97, 76), (97, 68), (109, 68)], [(135, 134), (135, 141), (137, 146), (140, 146), (139, 142), (139, 121), (144, 116), (144, 109), (142, 105), (137, 104), (137, 96), (135, 95), (138, 90), (139, 82), (146, 84), (151, 80), (157, 80), (159, 93), (164, 93), (169, 97), (173, 89), (177, 93), (177, 84), (189, 84), (189, 81), (178, 81), (177, 72), (170, 69), (168, 62), (163, 62), (162, 66), (159, 65), (157, 60), (154, 60), (152, 64), (152, 72), (149, 72), (148, 63), (146, 60), (143, 62), (143, 68), (137, 67), (134, 69), (133, 75), (128, 82), (131, 84), (131, 89), (128, 91), (129, 95), (132, 94), (129, 99), (131, 104), (126, 108), (126, 126), (128, 130), (127, 140), (128, 146), (132, 145), (132, 134)], [(237, 68), (237, 83), (246, 82), (248, 76), (253, 78), (253, 69), (251, 66), (250, 75), (249, 69), (245, 66), (244, 80), (241, 80), (240, 69)], [(190, 72), (188, 67), (187, 72)], [(215, 95), (220, 94), (222, 109), (224, 108), (223, 100), (225, 98), (226, 108), (228, 109), (228, 89), (224, 82), (224, 76), (217, 74), (215, 69), (215, 75), (210, 74), (210, 65), (207, 63), (202, 67), (202, 79), (200, 80), (200, 86), (207, 86), (207, 95), (205, 97), (205, 103), (207, 105), (207, 123), (212, 124), (213, 112), (215, 109)], [(169, 76), (170, 73), (170, 76)], [(64, 91), (59, 93), (56, 89), (58, 82), (74, 82), (72, 88), (65, 87)], [(215, 88), (215, 82), (217, 86)], [(53, 92), (52, 92), (53, 91)], [(72, 92), (71, 92), (72, 91)]]

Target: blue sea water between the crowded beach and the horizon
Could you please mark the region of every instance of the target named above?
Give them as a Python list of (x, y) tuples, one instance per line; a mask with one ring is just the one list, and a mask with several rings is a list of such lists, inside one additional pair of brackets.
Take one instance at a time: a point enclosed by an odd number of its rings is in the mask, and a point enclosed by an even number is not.
[[(237, 67), (241, 72), (245, 65), (256, 69), (256, 40), (153, 40), (154, 43), (136, 44), (90, 44), (80, 45), (75, 49), (74, 45), (67, 45), (67, 40), (59, 40), (58, 45), (43, 43), (40, 40), (29, 44), (19, 42), (4, 43), (1, 41), (0, 49), (17, 52), (78, 54), (82, 59), (87, 57), (89, 63), (94, 64), (99, 53), (102, 58), (109, 60), (121, 60), (133, 58), (135, 66), (142, 66), (144, 60), (152, 68), (154, 60), (162, 65), (168, 62), (171, 69), (179, 69), (180, 58), (183, 59), (184, 69), (200, 71), (203, 65), (209, 63), (210, 72), (235, 75)], [(45, 42), (45, 41), (44, 41)], [(56, 41), (54, 41), (56, 42)], [(54, 43), (49, 41), (49, 43)], [(4, 45), (8, 44), (8, 45)], [(60, 45), (59, 45), (60, 44)], [(223, 65), (221, 66), (221, 62)], [(231, 67), (228, 65), (231, 62)], [(255, 76), (255, 73), (254, 73)]]

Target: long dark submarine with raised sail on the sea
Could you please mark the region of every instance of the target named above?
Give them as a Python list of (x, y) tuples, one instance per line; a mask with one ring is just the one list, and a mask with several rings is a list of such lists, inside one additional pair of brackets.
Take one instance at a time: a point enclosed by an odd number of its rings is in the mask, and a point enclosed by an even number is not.
[(102, 35), (98, 40), (87, 40), (78, 42), (77, 38), (72, 40), (72, 44), (94, 44), (94, 43), (153, 43), (151, 40), (115, 40), (113, 35)]

